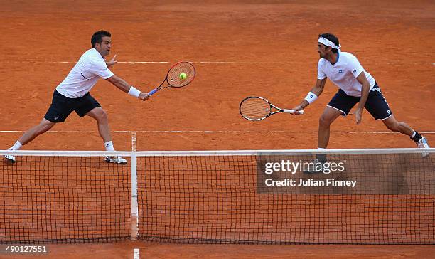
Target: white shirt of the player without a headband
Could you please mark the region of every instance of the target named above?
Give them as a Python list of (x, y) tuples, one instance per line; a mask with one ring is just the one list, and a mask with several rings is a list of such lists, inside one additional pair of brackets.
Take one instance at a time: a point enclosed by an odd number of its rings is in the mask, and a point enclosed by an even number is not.
[(107, 68), (101, 54), (95, 48), (91, 48), (83, 53), (56, 90), (66, 97), (82, 97), (92, 89), (98, 79), (107, 79), (112, 75), (114, 74)]

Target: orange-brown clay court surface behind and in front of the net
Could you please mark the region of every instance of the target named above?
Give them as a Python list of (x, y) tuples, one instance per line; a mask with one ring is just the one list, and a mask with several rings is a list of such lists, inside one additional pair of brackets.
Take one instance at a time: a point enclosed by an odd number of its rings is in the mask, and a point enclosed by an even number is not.
[[(109, 115), (119, 151), (316, 149), (318, 117), (337, 91), (330, 81), (304, 115), (244, 120), (240, 101), (299, 104), (317, 76), (317, 36), (335, 33), (380, 85), (395, 117), (435, 144), (433, 1), (20, 1), (0, 6), (0, 149), (36, 125), (53, 90), (90, 36), (112, 33), (112, 72), (149, 91), (171, 64), (188, 60), (186, 88), (141, 102), (100, 80), (91, 94)], [(367, 111), (331, 127), (331, 149), (409, 148)], [(73, 114), (24, 149), (103, 150), (90, 117)], [(181, 245), (122, 241), (49, 245), (41, 258), (431, 258), (434, 245)], [(0, 258), (9, 258), (0, 254)], [(28, 258), (28, 256), (23, 256)]]

